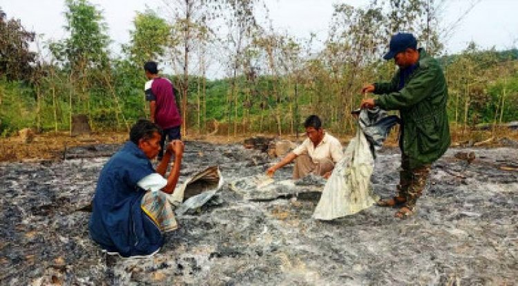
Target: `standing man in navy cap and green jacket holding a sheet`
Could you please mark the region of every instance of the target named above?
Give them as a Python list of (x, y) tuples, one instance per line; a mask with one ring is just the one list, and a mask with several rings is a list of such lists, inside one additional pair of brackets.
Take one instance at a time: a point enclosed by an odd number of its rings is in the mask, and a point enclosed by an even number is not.
[(450, 146), (450, 127), (446, 104), (448, 87), (439, 62), (417, 49), (412, 34), (399, 33), (390, 40), (390, 50), (383, 57), (392, 59), (399, 70), (390, 82), (369, 84), (363, 93), (380, 95), (366, 98), (362, 108), (379, 106), (399, 110), (401, 116), (401, 171), (398, 195), (381, 200), (378, 205), (401, 207), (396, 217), (405, 218), (415, 211), (416, 200), (423, 193), (431, 164)]

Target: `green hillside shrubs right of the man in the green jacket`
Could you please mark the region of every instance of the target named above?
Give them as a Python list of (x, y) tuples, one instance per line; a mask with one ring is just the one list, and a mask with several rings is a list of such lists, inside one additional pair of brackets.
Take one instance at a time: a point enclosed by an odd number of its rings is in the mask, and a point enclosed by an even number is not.
[(518, 96), (512, 85), (517, 77), (517, 60), (510, 55), (512, 50), (480, 50), (470, 43), (463, 53), (443, 57), (450, 93), (448, 113), (453, 122), (474, 126), (494, 123), (500, 117), (503, 121), (517, 119), (509, 107)]

